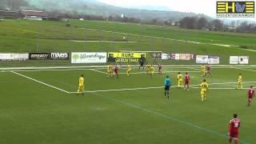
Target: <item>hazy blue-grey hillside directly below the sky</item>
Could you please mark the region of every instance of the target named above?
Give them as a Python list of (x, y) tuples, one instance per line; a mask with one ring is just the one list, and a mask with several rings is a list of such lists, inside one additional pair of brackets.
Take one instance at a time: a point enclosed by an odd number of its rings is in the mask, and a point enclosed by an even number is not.
[[(10, 2), (12, 1), (12, 2)], [(9, 10), (18, 9), (39, 9), (48, 12), (56, 11), (69, 14), (93, 14), (93, 15), (121, 15), (126, 17), (141, 18), (143, 20), (171, 20), (176, 21), (184, 17), (204, 16), (194, 13), (182, 13), (178, 11), (160, 10), (138, 10), (128, 9), (117, 6), (110, 6), (96, 0), (2, 0), (0, 6)], [(1, 8), (0, 7), (0, 8)]]

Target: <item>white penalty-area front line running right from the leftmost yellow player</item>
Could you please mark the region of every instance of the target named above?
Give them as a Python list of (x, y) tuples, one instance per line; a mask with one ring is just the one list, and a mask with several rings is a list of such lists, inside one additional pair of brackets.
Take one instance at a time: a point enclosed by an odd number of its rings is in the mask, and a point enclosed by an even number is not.
[[(222, 83), (210, 83), (209, 85), (226, 85), (226, 84), (234, 84), (234, 83), (238, 83), (238, 82), (222, 82)], [(256, 82), (242, 82), (242, 83), (256, 83)], [(196, 85), (190, 85), (190, 88), (196, 88), (198, 89), (200, 84), (196, 84)], [(150, 90), (150, 89), (161, 89), (164, 86), (155, 86), (155, 87), (138, 87), (138, 88), (126, 88), (126, 89), (115, 89), (115, 90), (88, 90), (86, 91), (86, 93), (97, 93), (97, 92), (110, 92), (110, 91), (125, 91), (125, 90)], [(177, 87), (177, 86), (170, 86), (171, 88), (173, 87)], [(216, 88), (210, 88), (210, 89), (217, 89), (217, 90), (231, 90), (234, 89), (230, 88), (230, 87), (216, 87)], [(75, 94), (77, 92), (70, 92), (70, 94)]]

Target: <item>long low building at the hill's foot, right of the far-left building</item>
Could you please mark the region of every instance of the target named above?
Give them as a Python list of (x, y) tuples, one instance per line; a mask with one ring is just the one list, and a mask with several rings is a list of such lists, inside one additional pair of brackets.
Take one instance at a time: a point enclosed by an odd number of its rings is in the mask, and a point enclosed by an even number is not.
[(22, 14), (23, 19), (28, 20), (42, 21), (44, 18), (49, 18), (48, 14), (38, 10), (21, 10), (20, 13)]

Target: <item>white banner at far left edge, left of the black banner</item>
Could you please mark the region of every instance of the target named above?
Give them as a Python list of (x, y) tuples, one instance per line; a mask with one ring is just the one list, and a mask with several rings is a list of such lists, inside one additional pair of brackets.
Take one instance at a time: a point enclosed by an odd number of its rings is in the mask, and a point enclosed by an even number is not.
[(0, 54), (0, 61), (23, 61), (29, 59), (29, 54)]

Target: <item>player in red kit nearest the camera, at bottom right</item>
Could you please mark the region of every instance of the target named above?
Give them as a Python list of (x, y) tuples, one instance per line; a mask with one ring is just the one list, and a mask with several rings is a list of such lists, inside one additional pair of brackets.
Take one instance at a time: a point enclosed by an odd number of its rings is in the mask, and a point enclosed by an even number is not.
[(234, 139), (234, 143), (238, 144), (238, 130), (240, 127), (240, 119), (238, 118), (238, 114), (234, 114), (233, 118), (230, 120), (230, 129), (229, 129), (229, 136), (230, 136), (230, 143)]

